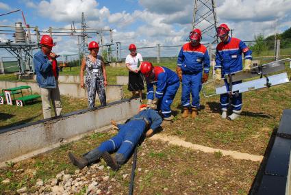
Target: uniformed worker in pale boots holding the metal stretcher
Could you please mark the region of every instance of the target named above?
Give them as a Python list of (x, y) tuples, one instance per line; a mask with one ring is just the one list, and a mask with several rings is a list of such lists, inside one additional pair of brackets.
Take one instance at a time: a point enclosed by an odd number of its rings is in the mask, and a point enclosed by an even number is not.
[[(215, 59), (215, 81), (218, 83), (225, 74), (237, 72), (240, 70), (249, 71), (251, 69), (252, 51), (242, 40), (229, 36), (229, 27), (221, 24), (217, 28), (217, 36), (221, 42), (216, 47)], [(244, 67), (242, 66), (242, 53), (244, 53)], [(233, 84), (242, 81), (233, 82)], [(225, 81), (227, 88), (229, 85)], [(227, 118), (227, 107), (232, 108), (232, 114), (228, 116), (229, 120), (235, 120), (242, 112), (242, 94), (231, 96), (231, 105), (229, 105), (229, 94), (220, 95), (220, 105), (222, 109), (222, 118)]]

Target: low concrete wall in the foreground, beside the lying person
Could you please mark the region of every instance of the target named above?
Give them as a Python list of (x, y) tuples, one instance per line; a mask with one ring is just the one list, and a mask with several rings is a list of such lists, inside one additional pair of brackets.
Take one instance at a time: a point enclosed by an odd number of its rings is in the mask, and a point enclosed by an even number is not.
[(112, 119), (126, 120), (137, 114), (139, 105), (139, 99), (127, 99), (105, 107), (3, 129), (0, 131), (0, 166), (4, 166), (5, 161), (25, 159), (48, 151), (60, 146), (64, 140), (71, 141), (92, 131), (102, 131)]

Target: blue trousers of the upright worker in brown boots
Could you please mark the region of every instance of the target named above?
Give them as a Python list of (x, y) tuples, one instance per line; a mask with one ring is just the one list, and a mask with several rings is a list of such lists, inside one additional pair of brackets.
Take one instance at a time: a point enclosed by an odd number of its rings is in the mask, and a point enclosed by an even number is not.
[(202, 71), (197, 74), (184, 74), (182, 76), (182, 96), (181, 105), (190, 107), (190, 93), (192, 95), (191, 107), (199, 109), (200, 107), (200, 90), (202, 87)]

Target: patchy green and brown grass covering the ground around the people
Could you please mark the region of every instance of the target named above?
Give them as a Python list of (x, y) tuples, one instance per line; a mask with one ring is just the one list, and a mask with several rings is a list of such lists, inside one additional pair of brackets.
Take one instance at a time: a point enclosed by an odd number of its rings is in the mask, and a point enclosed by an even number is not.
[[(171, 69), (176, 66), (175, 62), (161, 65)], [(124, 67), (106, 69), (109, 83), (112, 84), (116, 83), (116, 75), (127, 75)], [(79, 69), (73, 68), (72, 72), (68, 70), (61, 74), (78, 75)], [(288, 74), (290, 75), (290, 70)], [(283, 109), (291, 107), (290, 87), (291, 84), (288, 83), (244, 93), (242, 116), (235, 121), (220, 118), (218, 96), (205, 98), (202, 95), (199, 116), (194, 120), (181, 118), (180, 87), (172, 105), (175, 115), (173, 125), (162, 129), (160, 134), (175, 135), (193, 144), (264, 155), (270, 136), (279, 127)], [(126, 88), (125, 86), (125, 94), (129, 97), (130, 93)], [(86, 99), (76, 103), (77, 101), (62, 96), (62, 102), (64, 112), (86, 107)], [(40, 118), (42, 111), (39, 101), (23, 108), (0, 105), (0, 128)], [(29, 192), (34, 192), (33, 186), (38, 179), (49, 181), (62, 170), (73, 174), (75, 167), (69, 163), (67, 152), (74, 151), (81, 155), (114, 133), (92, 133), (49, 153), (16, 164), (10, 163), (7, 168), (0, 169), (0, 194), (16, 194), (16, 190), (24, 186), (28, 187)], [(104, 162), (101, 161), (101, 164)], [(221, 157), (219, 153), (199, 153), (163, 142), (145, 140), (138, 150), (137, 168), (141, 171), (136, 172), (135, 194), (247, 194), (259, 166), (259, 163), (253, 161)], [(19, 169), (25, 171), (17, 172)], [(131, 159), (118, 172), (104, 169), (92, 174), (109, 175), (110, 179), (116, 179), (114, 184), (110, 180), (100, 181), (103, 189), (111, 185), (111, 194), (127, 194), (129, 177), (123, 179), (123, 174), (130, 172)], [(5, 179), (10, 179), (11, 182), (1, 183)]]

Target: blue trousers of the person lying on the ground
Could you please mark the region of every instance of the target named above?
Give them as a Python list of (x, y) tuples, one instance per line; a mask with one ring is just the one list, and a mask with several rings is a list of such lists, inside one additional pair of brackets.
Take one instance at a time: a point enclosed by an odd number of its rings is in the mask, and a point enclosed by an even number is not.
[(89, 163), (92, 163), (97, 161), (103, 152), (113, 153), (116, 151), (115, 159), (117, 163), (120, 165), (124, 164), (136, 144), (138, 144), (146, 126), (147, 124), (143, 119), (129, 120), (125, 124), (118, 124), (119, 131), (117, 135), (110, 138), (110, 140), (102, 142), (100, 146), (83, 156), (88, 159)]

